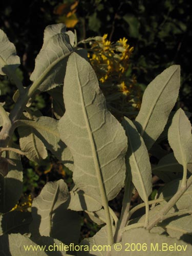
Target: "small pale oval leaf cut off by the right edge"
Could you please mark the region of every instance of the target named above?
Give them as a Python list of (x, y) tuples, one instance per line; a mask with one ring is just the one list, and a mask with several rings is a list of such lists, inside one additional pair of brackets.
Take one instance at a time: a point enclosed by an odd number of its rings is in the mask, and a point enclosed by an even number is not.
[(174, 115), (168, 130), (168, 142), (177, 161), (183, 166), (187, 165), (192, 159), (192, 135), (190, 121), (182, 109)]

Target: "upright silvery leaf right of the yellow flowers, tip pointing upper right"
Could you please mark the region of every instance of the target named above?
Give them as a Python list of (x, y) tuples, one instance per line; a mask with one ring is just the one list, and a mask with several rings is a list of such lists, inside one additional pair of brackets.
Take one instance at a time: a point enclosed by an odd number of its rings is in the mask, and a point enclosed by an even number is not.
[(136, 127), (149, 150), (163, 132), (180, 87), (180, 66), (164, 70), (148, 84), (136, 117)]

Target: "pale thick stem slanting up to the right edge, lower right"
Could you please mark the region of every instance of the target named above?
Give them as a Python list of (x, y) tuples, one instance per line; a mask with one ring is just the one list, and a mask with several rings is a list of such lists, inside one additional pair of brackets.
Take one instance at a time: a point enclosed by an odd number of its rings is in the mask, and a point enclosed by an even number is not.
[(186, 182), (186, 186), (181, 186), (177, 193), (168, 201), (168, 203), (162, 208), (162, 210), (159, 212), (158, 216), (156, 216), (146, 227), (146, 229), (151, 230), (158, 222), (162, 221), (164, 219), (164, 216), (167, 214), (167, 212), (177, 203), (177, 201), (181, 198), (181, 196), (185, 193), (187, 188), (192, 184), (192, 175), (189, 177), (189, 179)]

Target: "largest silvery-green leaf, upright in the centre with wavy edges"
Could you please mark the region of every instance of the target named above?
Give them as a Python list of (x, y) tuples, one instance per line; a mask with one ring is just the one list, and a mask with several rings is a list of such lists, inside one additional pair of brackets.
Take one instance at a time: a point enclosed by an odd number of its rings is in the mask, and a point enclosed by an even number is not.
[(127, 138), (106, 109), (94, 70), (76, 53), (68, 60), (63, 96), (66, 113), (58, 128), (74, 159), (74, 183), (98, 201), (104, 184), (112, 200), (124, 186)]

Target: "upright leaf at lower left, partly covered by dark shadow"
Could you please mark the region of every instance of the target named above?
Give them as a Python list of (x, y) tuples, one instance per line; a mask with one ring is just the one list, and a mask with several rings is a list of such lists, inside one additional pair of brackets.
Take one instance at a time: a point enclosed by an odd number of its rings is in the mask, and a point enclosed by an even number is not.
[(67, 244), (78, 242), (78, 215), (67, 210), (68, 198), (68, 187), (63, 180), (45, 185), (32, 204), (30, 231), (34, 237), (51, 236)]

